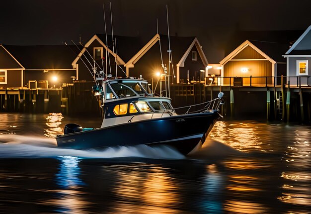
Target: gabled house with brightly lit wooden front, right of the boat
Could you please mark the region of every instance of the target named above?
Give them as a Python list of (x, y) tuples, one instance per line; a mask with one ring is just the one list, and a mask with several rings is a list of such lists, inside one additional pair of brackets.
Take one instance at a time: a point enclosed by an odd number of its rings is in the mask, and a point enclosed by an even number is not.
[[(250, 84), (250, 76), (252, 85), (265, 85), (266, 81), (273, 84), (274, 77), (286, 74), (286, 62), (282, 58), (286, 49), (284, 44), (246, 40), (220, 62), (221, 76), (242, 77), (243, 85)], [(230, 84), (230, 79), (224, 78), (222, 82)]]

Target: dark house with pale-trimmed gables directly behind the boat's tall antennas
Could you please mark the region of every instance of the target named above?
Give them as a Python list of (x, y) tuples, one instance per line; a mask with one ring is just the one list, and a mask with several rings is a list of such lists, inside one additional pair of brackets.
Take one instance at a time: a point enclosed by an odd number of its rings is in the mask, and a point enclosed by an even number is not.
[[(151, 81), (156, 78), (156, 72), (162, 69), (162, 60), (168, 71), (168, 49), (167, 35), (156, 34), (125, 63), (127, 75), (135, 77), (143, 75), (143, 78)], [(170, 36), (170, 49), (173, 65), (173, 67), (170, 66), (172, 83), (186, 83), (187, 79), (190, 81), (199, 80), (200, 71), (205, 71), (208, 61), (198, 39), (196, 37)]]

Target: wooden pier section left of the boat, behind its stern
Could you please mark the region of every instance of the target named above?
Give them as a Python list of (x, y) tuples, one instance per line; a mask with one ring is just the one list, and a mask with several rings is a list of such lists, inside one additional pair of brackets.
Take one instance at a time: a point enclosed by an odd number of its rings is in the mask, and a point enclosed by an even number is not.
[(66, 84), (60, 88), (0, 89), (0, 112), (64, 114), (99, 114), (96, 98), (91, 93), (93, 83)]

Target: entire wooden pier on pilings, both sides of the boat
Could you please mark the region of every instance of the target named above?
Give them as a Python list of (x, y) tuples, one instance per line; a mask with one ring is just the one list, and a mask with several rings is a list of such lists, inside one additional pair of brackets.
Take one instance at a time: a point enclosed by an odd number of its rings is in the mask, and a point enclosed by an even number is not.
[[(263, 77), (260, 77), (263, 78)], [(225, 78), (224, 78), (225, 79)], [(226, 118), (265, 118), (280, 121), (311, 121), (311, 86), (280, 84), (205, 85), (200, 83), (172, 84), (170, 94), (174, 107), (189, 106), (217, 98), (224, 92), (221, 113)], [(268, 80), (267, 77), (264, 79)], [(275, 81), (277, 82), (277, 81)], [(289, 82), (287, 82), (289, 83)], [(93, 82), (75, 82), (60, 88), (0, 89), (0, 112), (29, 112), (101, 115), (96, 97), (91, 93)]]

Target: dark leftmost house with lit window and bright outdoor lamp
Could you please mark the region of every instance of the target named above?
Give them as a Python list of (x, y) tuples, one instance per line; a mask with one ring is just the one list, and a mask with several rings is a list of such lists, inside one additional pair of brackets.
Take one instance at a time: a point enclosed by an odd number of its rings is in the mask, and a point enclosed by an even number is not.
[(0, 87), (26, 87), (29, 81), (45, 81), (50, 86), (68, 83), (77, 75), (71, 66), (74, 57), (75, 53), (66, 45), (1, 44)]

